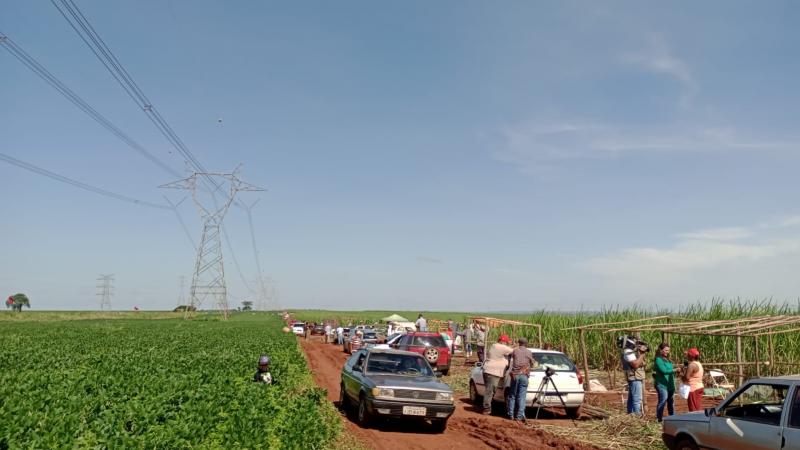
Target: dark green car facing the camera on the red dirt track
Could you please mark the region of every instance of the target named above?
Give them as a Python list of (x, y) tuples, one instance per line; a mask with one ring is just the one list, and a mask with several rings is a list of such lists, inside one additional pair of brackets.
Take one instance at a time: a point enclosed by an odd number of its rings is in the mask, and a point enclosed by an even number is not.
[(361, 349), (342, 368), (339, 405), (357, 407), (357, 421), (369, 426), (378, 417), (430, 420), (443, 432), (453, 414), (453, 390), (439, 381), (418, 353)]

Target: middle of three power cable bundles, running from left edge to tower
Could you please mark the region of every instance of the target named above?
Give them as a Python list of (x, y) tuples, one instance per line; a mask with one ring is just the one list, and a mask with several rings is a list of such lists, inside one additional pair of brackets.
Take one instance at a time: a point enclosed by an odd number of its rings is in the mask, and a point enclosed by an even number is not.
[(170, 173), (174, 176), (180, 176), (180, 173), (167, 165), (165, 162), (158, 159), (155, 155), (147, 151), (144, 147), (142, 147), (138, 142), (136, 142), (132, 137), (122, 131), (118, 126), (114, 125), (109, 119), (105, 116), (100, 114), (96, 109), (94, 109), (91, 105), (89, 105), (84, 99), (82, 99), (78, 94), (76, 94), (72, 89), (67, 87), (64, 83), (61, 82), (55, 75), (53, 75), (49, 70), (47, 70), (42, 64), (40, 64), (34, 57), (29, 55), (25, 50), (22, 49), (16, 42), (11, 40), (10, 37), (3, 34), (0, 31), (0, 45), (2, 45), (12, 56), (17, 58), (23, 65), (25, 65), (28, 69), (33, 71), (39, 78), (47, 82), (53, 89), (58, 91), (59, 94), (63, 95), (67, 100), (72, 102), (73, 105), (78, 107), (81, 111), (83, 111), (86, 115), (91, 117), (95, 122), (100, 124), (103, 128), (108, 130), (111, 134), (119, 138), (122, 142), (128, 145), (131, 149), (139, 153), (140, 155), (144, 156), (153, 164), (159, 166), (164, 171)]

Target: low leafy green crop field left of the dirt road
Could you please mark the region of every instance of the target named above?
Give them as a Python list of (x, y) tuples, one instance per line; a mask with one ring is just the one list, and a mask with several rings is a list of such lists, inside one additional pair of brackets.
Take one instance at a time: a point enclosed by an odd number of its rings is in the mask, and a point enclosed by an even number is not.
[[(85, 320), (30, 314), (0, 326), (0, 448), (323, 448), (341, 439), (337, 412), (276, 315), (77, 314)], [(175, 316), (150, 315), (160, 314)], [(251, 381), (263, 353), (276, 385)]]

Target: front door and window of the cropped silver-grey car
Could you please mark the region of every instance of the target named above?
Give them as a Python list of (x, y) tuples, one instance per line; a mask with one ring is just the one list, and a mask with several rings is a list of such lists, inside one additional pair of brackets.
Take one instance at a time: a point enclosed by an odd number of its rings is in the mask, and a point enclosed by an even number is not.
[(726, 450), (780, 449), (788, 391), (784, 383), (746, 385), (709, 418), (709, 442), (703, 444)]

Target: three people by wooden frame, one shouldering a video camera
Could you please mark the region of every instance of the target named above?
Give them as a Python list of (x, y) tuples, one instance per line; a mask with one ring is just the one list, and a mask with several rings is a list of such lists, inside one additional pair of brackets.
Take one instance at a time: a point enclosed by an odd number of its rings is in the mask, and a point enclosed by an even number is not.
[[(683, 367), (675, 367), (670, 360), (670, 346), (662, 342), (656, 351), (653, 361), (653, 384), (658, 394), (656, 419), (661, 422), (664, 409), (671, 416), (675, 414), (675, 374), (680, 372), (681, 393), (687, 400), (689, 411), (703, 410), (703, 365), (700, 363), (700, 351), (692, 347), (685, 352)], [(646, 347), (637, 346), (635, 351), (624, 352), (622, 369), (628, 381), (628, 414), (642, 415), (644, 396), (645, 354)], [(688, 394), (688, 396), (686, 395)]]

